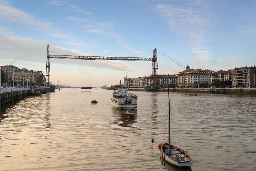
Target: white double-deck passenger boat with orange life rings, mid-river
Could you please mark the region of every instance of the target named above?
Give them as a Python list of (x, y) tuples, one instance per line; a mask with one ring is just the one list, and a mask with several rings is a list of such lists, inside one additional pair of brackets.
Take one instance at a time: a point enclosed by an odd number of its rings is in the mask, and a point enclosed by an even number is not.
[(114, 108), (122, 110), (135, 110), (137, 108), (137, 103), (138, 95), (128, 93), (128, 89), (125, 87), (113, 91), (111, 104)]

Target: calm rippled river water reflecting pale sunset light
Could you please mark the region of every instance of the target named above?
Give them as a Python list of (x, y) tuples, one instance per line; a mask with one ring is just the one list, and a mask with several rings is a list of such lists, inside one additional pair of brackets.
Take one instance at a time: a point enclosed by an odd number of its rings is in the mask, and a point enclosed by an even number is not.
[(180, 147), (194, 161), (180, 169), (163, 161), (157, 147), (168, 93), (133, 93), (132, 121), (121, 119), (124, 111), (110, 105), (112, 91), (101, 89), (61, 89), (3, 110), (0, 170), (255, 169), (256, 96), (170, 93)]

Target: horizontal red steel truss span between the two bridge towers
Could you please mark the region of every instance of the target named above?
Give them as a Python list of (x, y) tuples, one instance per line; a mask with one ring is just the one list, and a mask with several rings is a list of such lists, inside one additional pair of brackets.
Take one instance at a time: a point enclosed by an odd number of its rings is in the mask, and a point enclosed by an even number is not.
[(118, 61), (153, 61), (154, 60), (154, 58), (141, 58), (141, 57), (72, 56), (72, 55), (49, 55), (49, 58), (78, 59), (78, 60), (118, 60)]

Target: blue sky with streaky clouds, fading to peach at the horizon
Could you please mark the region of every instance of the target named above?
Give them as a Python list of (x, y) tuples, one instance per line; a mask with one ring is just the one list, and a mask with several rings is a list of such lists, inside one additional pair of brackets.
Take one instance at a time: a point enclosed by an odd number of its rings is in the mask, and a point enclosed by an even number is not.
[[(194, 69), (254, 66), (255, 18), (250, 0), (0, 0), (0, 66), (21, 58), (11, 65), (45, 74), (47, 44), (51, 55), (152, 58), (157, 48)], [(157, 58), (159, 74), (184, 70)], [(53, 83), (100, 87), (151, 75), (152, 62), (50, 59), (50, 68)]]

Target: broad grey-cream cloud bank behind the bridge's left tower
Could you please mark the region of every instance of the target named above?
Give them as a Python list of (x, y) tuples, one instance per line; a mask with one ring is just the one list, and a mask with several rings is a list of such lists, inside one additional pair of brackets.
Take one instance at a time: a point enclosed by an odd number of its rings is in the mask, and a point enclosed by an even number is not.
[[(9, 47), (9, 48), (6, 48)], [(10, 48), (12, 50), (10, 50)], [(59, 50), (59, 49), (61, 50)], [(14, 36), (1, 36), (0, 35), (0, 63), (6, 65), (14, 60), (29, 54), (31, 51), (35, 51), (33, 54), (23, 58), (14, 63), (17, 67), (26, 68), (29, 62), (33, 61), (38, 66), (42, 68), (45, 67), (46, 64), (46, 50), (47, 50), (47, 43), (34, 41), (31, 39), (25, 39), (21, 37), (14, 37)], [(77, 54), (81, 56), (86, 56), (80, 51), (74, 49), (66, 49), (61, 47), (54, 48), (50, 45), (50, 54), (53, 55), (70, 55), (69, 53), (65, 52), (68, 51), (71, 54)], [(135, 72), (133, 69), (130, 68), (129, 65), (121, 62), (115, 61), (84, 61), (81, 60), (65, 60), (65, 59), (51, 59), (51, 64), (66, 64), (66, 65), (86, 65), (96, 68), (104, 68), (104, 69), (112, 69), (118, 71), (129, 71)]]

